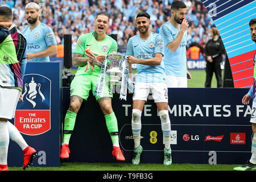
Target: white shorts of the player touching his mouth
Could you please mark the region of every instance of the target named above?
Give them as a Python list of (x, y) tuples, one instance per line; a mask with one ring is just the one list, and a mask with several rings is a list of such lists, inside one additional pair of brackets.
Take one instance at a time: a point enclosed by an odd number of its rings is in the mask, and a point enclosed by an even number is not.
[(188, 88), (187, 76), (166, 75), (167, 88)]

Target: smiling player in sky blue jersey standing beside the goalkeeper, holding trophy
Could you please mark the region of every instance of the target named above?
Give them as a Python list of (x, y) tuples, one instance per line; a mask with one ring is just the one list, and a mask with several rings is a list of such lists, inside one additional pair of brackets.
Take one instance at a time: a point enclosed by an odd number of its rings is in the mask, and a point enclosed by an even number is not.
[(143, 106), (151, 92), (158, 107), (162, 131), (164, 136), (164, 164), (170, 165), (171, 147), (170, 133), (171, 123), (168, 114), (168, 89), (166, 75), (162, 61), (164, 46), (163, 38), (159, 34), (150, 31), (150, 15), (139, 13), (136, 17), (136, 26), (139, 34), (129, 39), (126, 55), (128, 63), (137, 64), (137, 76), (133, 94), (133, 113), (131, 128), (134, 138), (133, 164), (139, 164), (142, 153), (141, 146), (141, 114)]

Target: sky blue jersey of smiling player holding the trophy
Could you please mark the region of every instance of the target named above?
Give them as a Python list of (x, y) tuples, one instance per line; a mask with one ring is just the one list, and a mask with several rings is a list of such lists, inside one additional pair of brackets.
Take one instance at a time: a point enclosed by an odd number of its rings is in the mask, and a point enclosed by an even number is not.
[[(150, 32), (147, 40), (142, 40), (141, 36), (131, 37), (127, 43), (126, 55), (134, 56), (137, 59), (150, 59), (155, 57), (155, 53), (164, 53), (163, 38), (159, 34)], [(163, 60), (160, 65), (137, 64), (138, 82), (166, 82)]]

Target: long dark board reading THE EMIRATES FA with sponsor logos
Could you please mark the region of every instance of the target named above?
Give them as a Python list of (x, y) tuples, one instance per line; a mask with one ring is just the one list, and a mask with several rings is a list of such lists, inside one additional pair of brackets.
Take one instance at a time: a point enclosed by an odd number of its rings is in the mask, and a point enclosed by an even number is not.
[[(127, 101), (121, 101), (118, 90), (113, 88), (112, 105), (118, 120), (119, 144), (126, 162), (130, 163), (134, 146), (131, 132), (133, 94), (127, 94)], [(247, 91), (233, 88), (169, 88), (173, 163), (245, 163), (251, 155), (252, 135), (251, 105), (241, 103)], [(63, 96), (68, 100), (69, 88), (63, 88)], [(68, 105), (69, 101), (66, 104), (63, 102), (64, 114)], [(141, 121), (141, 162), (163, 163), (161, 122), (151, 96), (144, 105)], [(105, 118), (92, 93), (77, 114), (69, 147), (69, 162), (114, 162)]]

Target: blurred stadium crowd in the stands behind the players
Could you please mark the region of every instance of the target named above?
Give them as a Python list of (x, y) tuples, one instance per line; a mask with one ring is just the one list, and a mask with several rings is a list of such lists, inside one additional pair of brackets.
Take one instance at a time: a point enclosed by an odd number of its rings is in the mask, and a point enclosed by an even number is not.
[[(118, 52), (125, 54), (127, 41), (138, 34), (134, 18), (140, 11), (151, 15), (151, 31), (159, 33), (160, 26), (170, 16), (173, 0), (43, 0), (34, 1), (42, 7), (41, 21), (55, 32), (59, 46), (56, 56), (63, 57), (64, 34), (72, 34), (72, 50), (81, 34), (94, 31), (93, 20), (99, 11), (110, 15), (107, 34), (117, 34)], [(210, 39), (210, 28), (214, 26), (212, 18), (200, 0), (182, 0), (187, 5), (186, 19), (189, 23), (187, 57), (203, 58), (202, 48)], [(0, 0), (1, 6), (13, 10), (13, 22), (19, 30), (28, 26), (24, 7), (29, 0)], [(62, 50), (62, 51), (61, 51)]]

